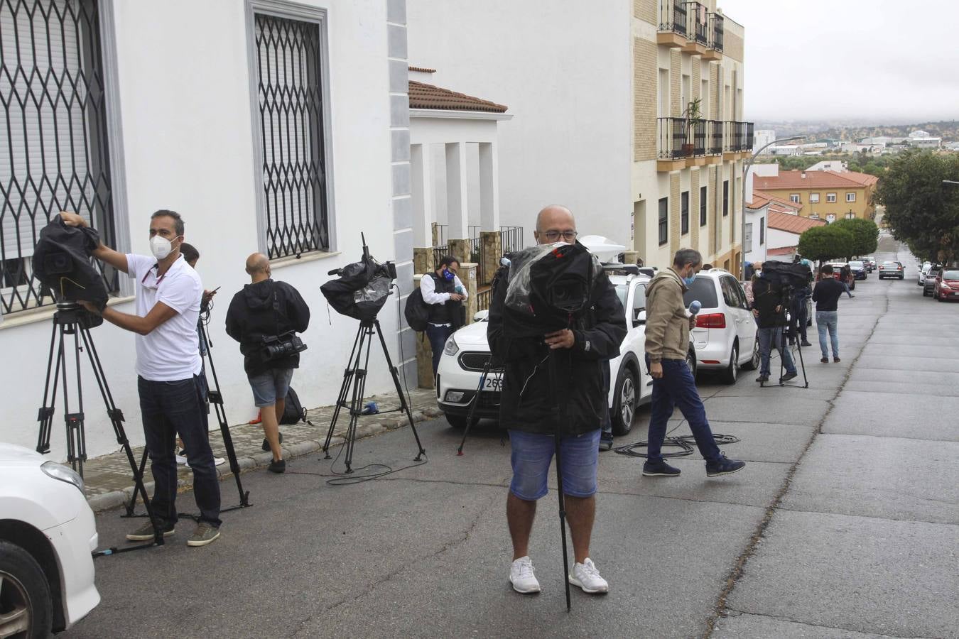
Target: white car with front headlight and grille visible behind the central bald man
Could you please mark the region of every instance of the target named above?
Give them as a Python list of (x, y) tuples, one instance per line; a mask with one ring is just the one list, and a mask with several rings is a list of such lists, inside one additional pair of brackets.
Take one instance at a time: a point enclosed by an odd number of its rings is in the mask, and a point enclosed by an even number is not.
[[(645, 275), (610, 275), (620, 302), (626, 312), (626, 337), (620, 344), (620, 355), (610, 360), (609, 407), (613, 432), (625, 435), (632, 428), (636, 409), (652, 397), (652, 377), (649, 377), (645, 358)], [(477, 395), (479, 380), (489, 360), (486, 341), (486, 317), (478, 313), (479, 321), (456, 331), (446, 342), (436, 371), (436, 401), (451, 425), (464, 427)], [(687, 361), (695, 374), (696, 354), (690, 339)], [(474, 418), (498, 420), (500, 417), (500, 390), (502, 370), (491, 372), (479, 394)]]

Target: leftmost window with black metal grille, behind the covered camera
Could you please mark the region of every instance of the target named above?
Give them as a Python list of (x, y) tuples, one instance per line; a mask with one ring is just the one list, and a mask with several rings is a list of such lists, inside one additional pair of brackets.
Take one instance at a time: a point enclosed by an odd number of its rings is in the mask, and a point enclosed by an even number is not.
[[(0, 312), (54, 302), (35, 280), (40, 230), (75, 211), (116, 245), (95, 0), (0, 2)], [(112, 269), (107, 289), (118, 289)]]

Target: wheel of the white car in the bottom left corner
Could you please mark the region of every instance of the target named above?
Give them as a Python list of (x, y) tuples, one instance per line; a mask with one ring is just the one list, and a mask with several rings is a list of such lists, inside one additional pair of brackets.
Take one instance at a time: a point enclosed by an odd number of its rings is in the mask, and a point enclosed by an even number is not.
[(46, 637), (52, 626), (50, 584), (40, 564), (23, 548), (0, 541), (0, 636)]

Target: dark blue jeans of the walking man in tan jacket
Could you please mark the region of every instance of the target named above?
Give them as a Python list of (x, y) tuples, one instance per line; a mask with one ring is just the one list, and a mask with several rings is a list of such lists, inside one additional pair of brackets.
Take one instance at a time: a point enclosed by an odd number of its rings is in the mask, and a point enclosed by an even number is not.
[[(713, 439), (713, 430), (706, 420), (706, 407), (699, 398), (696, 381), (692, 378), (690, 367), (683, 359), (664, 359), (663, 377), (653, 379), (652, 408), (649, 415), (649, 445), (646, 458), (651, 463), (663, 461), (663, 441), (666, 439), (666, 427), (672, 410), (679, 406), (683, 417), (690, 423), (692, 437), (703, 459), (707, 462), (718, 461), (719, 446)], [(646, 366), (649, 360), (646, 359)]]

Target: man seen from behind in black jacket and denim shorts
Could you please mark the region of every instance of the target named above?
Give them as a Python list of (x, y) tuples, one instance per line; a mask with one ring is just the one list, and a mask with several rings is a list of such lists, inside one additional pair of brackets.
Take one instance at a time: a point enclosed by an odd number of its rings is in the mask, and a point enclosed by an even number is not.
[(246, 258), (246, 272), (251, 284), (233, 296), (226, 311), (226, 333), (240, 342), (244, 354), (246, 377), (263, 418), (264, 444), (273, 453), (269, 470), (283, 472), (287, 463), (280, 451), (279, 422), (299, 353), (270, 357), (265, 339), (306, 331), (310, 308), (291, 285), (269, 279), (269, 260), (262, 253)]

